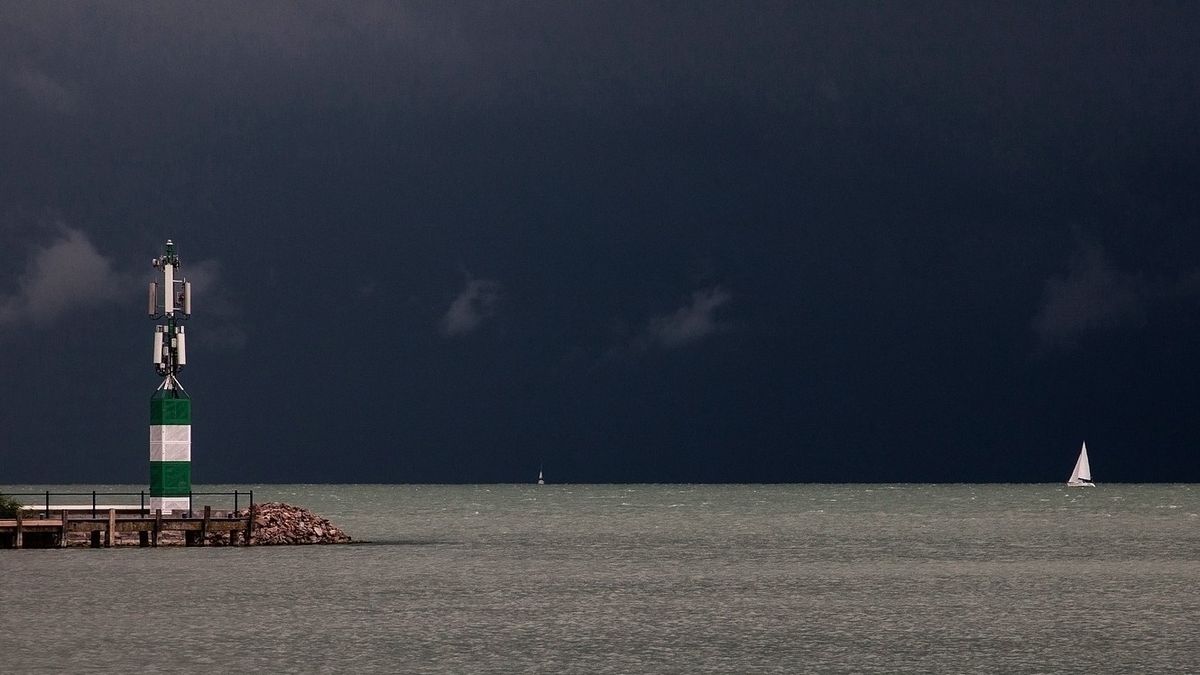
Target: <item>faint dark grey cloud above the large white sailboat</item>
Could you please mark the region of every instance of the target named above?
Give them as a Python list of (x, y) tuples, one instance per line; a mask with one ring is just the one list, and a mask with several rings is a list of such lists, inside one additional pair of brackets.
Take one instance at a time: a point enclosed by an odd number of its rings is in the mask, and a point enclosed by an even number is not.
[(1033, 330), (1042, 348), (1069, 348), (1085, 333), (1145, 319), (1148, 289), (1115, 269), (1096, 244), (1084, 244), (1066, 275), (1046, 280)]

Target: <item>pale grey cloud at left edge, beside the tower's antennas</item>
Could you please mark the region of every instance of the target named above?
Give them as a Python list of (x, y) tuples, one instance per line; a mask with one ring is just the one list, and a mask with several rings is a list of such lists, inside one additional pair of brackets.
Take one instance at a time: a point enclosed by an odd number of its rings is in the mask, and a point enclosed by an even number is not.
[(17, 291), (0, 295), (0, 328), (46, 325), (85, 305), (116, 300), (124, 286), (88, 235), (66, 228), (49, 246), (34, 249)]

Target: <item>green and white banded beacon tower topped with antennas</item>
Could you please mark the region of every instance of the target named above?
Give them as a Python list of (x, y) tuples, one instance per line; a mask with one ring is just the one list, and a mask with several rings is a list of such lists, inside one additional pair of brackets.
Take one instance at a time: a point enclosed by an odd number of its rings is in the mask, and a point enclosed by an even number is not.
[(154, 327), (154, 369), (162, 384), (150, 396), (150, 508), (163, 513), (186, 510), (192, 491), (192, 400), (179, 383), (187, 365), (186, 333), (181, 322), (192, 316), (192, 285), (175, 277), (181, 263), (175, 244), (151, 264), (162, 280), (150, 282)]

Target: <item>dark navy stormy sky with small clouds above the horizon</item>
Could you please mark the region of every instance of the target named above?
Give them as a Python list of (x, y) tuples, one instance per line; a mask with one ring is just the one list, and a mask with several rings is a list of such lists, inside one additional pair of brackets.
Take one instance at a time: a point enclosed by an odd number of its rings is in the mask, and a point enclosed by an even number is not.
[(0, 483), (1200, 480), (1200, 5), (0, 5)]

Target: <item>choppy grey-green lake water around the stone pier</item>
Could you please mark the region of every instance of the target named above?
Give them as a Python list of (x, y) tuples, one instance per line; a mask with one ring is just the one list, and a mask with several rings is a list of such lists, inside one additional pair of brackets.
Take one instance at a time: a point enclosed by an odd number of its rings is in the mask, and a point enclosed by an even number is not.
[(0, 550), (0, 671), (1200, 671), (1200, 485), (250, 488), (370, 543)]

